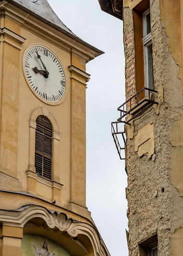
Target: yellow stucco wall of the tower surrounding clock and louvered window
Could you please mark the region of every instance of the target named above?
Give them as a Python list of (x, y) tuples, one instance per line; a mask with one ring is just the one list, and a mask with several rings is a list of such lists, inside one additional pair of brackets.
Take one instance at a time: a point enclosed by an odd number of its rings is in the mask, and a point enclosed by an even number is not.
[[(56, 200), (60, 206), (71, 211), (74, 209), (81, 215), (89, 214), (86, 213), (86, 82), (89, 75), (85, 71), (86, 63), (95, 54), (85, 46), (81, 50), (79, 43), (44, 22), (30, 16), (27, 18), (25, 11), (18, 10), (18, 7), (7, 5), (15, 17), (1, 17), (1, 27), (14, 34), (3, 35), (0, 48), (1, 189), (29, 192), (49, 202)], [(16, 16), (16, 10), (20, 17)], [(25, 20), (20, 22), (20, 18)], [(35, 43), (50, 48), (64, 67), (68, 91), (59, 105), (46, 104), (38, 99), (23, 75), (23, 54)], [(75, 70), (70, 70), (70, 66)], [(43, 109), (43, 114), (49, 113), (58, 127), (53, 164), (53, 181), (58, 185), (38, 180), (38, 175), (33, 174), (34, 154), (30, 150), (34, 136), (30, 118), (36, 109)]]

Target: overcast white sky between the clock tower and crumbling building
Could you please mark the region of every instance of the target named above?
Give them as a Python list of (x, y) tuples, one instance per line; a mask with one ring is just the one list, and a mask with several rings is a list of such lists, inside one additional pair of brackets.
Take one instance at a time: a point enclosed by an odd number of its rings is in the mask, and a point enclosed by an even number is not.
[(123, 22), (98, 0), (47, 0), (65, 25), (104, 51), (87, 64), (87, 206), (111, 256), (127, 256), (127, 175), (111, 135), (125, 102)]

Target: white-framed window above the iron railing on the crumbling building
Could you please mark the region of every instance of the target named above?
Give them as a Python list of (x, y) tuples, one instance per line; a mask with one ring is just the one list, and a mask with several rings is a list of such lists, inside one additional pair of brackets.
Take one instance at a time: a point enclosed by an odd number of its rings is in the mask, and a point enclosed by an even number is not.
[(153, 89), (153, 57), (150, 9), (143, 13), (143, 51), (144, 51), (144, 86)]

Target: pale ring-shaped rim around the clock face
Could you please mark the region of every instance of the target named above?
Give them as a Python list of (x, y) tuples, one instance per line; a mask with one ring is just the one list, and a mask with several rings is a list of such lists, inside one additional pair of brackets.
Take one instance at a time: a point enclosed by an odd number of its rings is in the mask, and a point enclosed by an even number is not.
[[(46, 100), (44, 100), (42, 97), (40, 97), (40, 96), (33, 90), (33, 88), (31, 87), (31, 84), (30, 84), (30, 82), (29, 82), (29, 80), (28, 80), (28, 78), (27, 78), (27, 75), (26, 75), (25, 58), (26, 58), (27, 53), (28, 53), (28, 52), (30, 51), (30, 49), (33, 48), (33, 47), (43, 47), (43, 48), (45, 48), (46, 50), (50, 51), (50, 52), (57, 58), (57, 60), (58, 60), (58, 62), (59, 62), (59, 64), (60, 64), (60, 66), (62, 67), (62, 69), (63, 69), (63, 71), (64, 71), (64, 76), (65, 76), (65, 80), (66, 80), (66, 90), (65, 90), (65, 93), (64, 93), (63, 97), (62, 97), (59, 101), (56, 101), (56, 102), (46, 101)], [(40, 44), (40, 43), (34, 43), (34, 44), (29, 45), (29, 46), (26, 48), (26, 50), (24, 51), (23, 56), (22, 56), (22, 68), (23, 68), (23, 75), (24, 75), (24, 77), (25, 77), (25, 79), (26, 79), (26, 82), (27, 82), (27, 84), (28, 84), (28, 86), (29, 86), (29, 89), (33, 92), (33, 94), (34, 94), (36, 97), (38, 97), (39, 100), (41, 100), (42, 102), (44, 102), (44, 103), (46, 103), (46, 104), (48, 104), (48, 105), (59, 105), (59, 104), (61, 104), (61, 103), (63, 103), (63, 102), (65, 101), (66, 96), (67, 96), (67, 93), (68, 93), (68, 79), (67, 79), (67, 75), (66, 75), (66, 70), (65, 70), (65, 68), (64, 68), (64, 66), (63, 66), (63, 64), (62, 64), (62, 62), (61, 62), (61, 60), (60, 60), (60, 58), (57, 56), (57, 54), (56, 54), (55, 52), (53, 52), (53, 51), (51, 50), (51, 48), (47, 47), (47, 46), (44, 45), (44, 44)], [(48, 67), (47, 67), (47, 68), (48, 68)]]

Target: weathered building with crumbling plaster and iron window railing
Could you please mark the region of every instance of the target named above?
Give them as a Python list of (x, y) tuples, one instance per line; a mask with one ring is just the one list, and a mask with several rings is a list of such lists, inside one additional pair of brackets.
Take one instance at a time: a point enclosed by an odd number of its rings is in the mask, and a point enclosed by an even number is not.
[(99, 3), (102, 10), (123, 19), (124, 25), (127, 101), (118, 108), (118, 121), (124, 122), (127, 137), (129, 255), (180, 256), (183, 2)]

